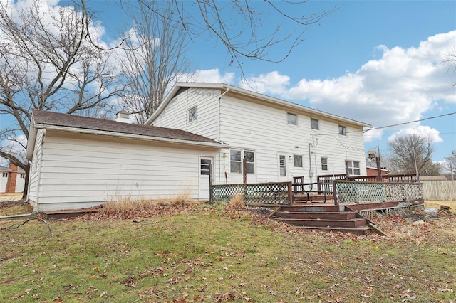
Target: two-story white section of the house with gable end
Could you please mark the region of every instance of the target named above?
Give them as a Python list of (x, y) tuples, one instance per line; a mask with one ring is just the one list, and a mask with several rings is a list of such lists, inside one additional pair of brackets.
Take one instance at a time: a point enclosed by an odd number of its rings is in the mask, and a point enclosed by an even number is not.
[(338, 117), (223, 83), (177, 83), (145, 124), (184, 129), (229, 144), (217, 156), (214, 184), (366, 175), (363, 127)]

